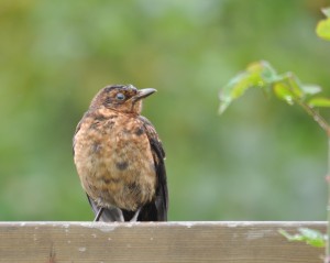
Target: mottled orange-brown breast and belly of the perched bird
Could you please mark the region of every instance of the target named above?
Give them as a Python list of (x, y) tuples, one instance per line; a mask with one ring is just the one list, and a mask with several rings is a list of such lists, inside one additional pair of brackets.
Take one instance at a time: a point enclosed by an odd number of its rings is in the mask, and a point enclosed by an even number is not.
[(154, 198), (154, 160), (136, 118), (86, 118), (75, 136), (75, 163), (82, 187), (99, 206), (136, 210)]

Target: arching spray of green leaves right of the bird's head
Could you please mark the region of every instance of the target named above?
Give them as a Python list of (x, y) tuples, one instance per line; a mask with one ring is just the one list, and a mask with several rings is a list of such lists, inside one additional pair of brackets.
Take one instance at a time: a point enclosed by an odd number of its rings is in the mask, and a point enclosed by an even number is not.
[(254, 62), (243, 72), (234, 76), (220, 91), (220, 109), (223, 111), (229, 105), (241, 97), (249, 88), (261, 88), (270, 94), (274, 91), (276, 97), (288, 105), (298, 103), (308, 113), (315, 107), (330, 107), (330, 99), (317, 97), (321, 88), (316, 85), (305, 85), (293, 73), (277, 74), (268, 62)]

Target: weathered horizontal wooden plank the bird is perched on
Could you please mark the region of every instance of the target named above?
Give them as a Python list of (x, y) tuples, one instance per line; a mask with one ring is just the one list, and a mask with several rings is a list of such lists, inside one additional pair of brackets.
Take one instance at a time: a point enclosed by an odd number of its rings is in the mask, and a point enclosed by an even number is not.
[(278, 233), (324, 222), (1, 222), (0, 262), (321, 262)]

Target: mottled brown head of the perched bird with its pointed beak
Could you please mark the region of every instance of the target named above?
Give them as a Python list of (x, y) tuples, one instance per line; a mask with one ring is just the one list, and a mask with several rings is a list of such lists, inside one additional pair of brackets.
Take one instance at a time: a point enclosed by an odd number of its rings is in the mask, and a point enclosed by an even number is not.
[(90, 109), (105, 107), (125, 113), (140, 114), (142, 99), (154, 94), (156, 89), (136, 89), (133, 85), (112, 85), (102, 88), (92, 99)]

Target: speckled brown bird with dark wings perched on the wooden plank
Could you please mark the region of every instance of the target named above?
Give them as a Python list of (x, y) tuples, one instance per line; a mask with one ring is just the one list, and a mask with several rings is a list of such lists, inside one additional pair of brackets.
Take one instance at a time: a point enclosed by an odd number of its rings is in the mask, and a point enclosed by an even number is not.
[(73, 140), (74, 163), (95, 221), (167, 221), (165, 151), (142, 100), (156, 89), (108, 85)]

